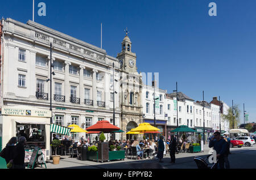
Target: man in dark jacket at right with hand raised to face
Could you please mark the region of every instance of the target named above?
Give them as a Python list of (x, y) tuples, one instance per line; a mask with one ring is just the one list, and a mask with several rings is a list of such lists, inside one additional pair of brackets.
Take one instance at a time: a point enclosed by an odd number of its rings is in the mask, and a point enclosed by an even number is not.
[(218, 168), (220, 169), (224, 169), (224, 155), (227, 153), (227, 145), (228, 143), (224, 139), (221, 139), (220, 132), (214, 132), (213, 138), (211, 138), (209, 142), (209, 148), (213, 147), (214, 151), (216, 151)]

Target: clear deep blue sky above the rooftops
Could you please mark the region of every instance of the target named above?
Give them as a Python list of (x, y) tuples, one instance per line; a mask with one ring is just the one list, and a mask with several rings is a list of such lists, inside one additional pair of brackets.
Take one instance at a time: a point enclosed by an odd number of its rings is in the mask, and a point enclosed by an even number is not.
[[(46, 16), (38, 16), (45, 2)], [(208, 15), (209, 3), (217, 16)], [(138, 71), (159, 72), (159, 85), (195, 100), (220, 96), (229, 106), (243, 103), (256, 122), (256, 1), (49, 1), (35, 0), (35, 22), (103, 48), (113, 57), (121, 51), (128, 27)], [(1, 3), (1, 16), (32, 20), (32, 0)], [(241, 121), (243, 118), (241, 115)]]

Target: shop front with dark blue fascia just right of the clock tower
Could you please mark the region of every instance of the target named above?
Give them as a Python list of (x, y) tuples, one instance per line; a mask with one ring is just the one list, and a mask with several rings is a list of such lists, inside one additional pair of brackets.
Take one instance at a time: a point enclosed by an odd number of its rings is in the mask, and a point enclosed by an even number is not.
[[(144, 119), (144, 122), (150, 123), (151, 126), (154, 126), (154, 120)], [(159, 130), (160, 130), (159, 131), (160, 133), (154, 135), (154, 136), (157, 136), (158, 139), (160, 138), (160, 136), (164, 136), (165, 138), (168, 138), (166, 122), (167, 121), (165, 121), (165, 120), (156, 120), (155, 121), (155, 127), (159, 128)], [(145, 134), (145, 135), (146, 135), (146, 138), (152, 139), (152, 137), (150, 137), (150, 135), (148, 135), (148, 134)], [(151, 136), (153, 136), (153, 135), (151, 134)]]

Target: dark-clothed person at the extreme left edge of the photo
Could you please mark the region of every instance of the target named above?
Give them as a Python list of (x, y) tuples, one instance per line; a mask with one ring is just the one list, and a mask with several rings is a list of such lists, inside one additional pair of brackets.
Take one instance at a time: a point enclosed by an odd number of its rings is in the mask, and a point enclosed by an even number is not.
[[(5, 159), (6, 164), (9, 162), (13, 164), (14, 157), (16, 156), (16, 149), (15, 144), (17, 143), (17, 138), (13, 137), (9, 140), (9, 142), (6, 144), (6, 147), (3, 148), (3, 150), (0, 153), (0, 156)], [(10, 166), (9, 168), (13, 168), (13, 166)]]

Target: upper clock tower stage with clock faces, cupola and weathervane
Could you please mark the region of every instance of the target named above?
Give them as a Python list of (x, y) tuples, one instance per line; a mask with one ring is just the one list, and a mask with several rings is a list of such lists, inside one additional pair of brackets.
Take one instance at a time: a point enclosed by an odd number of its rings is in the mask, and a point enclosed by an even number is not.
[(127, 35), (122, 41), (122, 52), (117, 54), (117, 59), (120, 62), (122, 71), (125, 72), (137, 72), (136, 66), (136, 54), (131, 52), (131, 40)]

